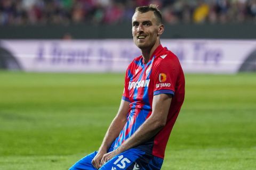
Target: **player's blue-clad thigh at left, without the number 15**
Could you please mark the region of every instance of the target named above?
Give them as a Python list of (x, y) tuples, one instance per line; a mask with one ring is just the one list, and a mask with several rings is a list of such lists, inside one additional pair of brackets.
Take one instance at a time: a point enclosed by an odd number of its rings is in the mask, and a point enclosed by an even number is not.
[(92, 159), (97, 155), (97, 151), (93, 152), (90, 155), (85, 156), (84, 158), (78, 160), (77, 163), (75, 163), (72, 167), (69, 168), (69, 170), (97, 170), (92, 165)]

